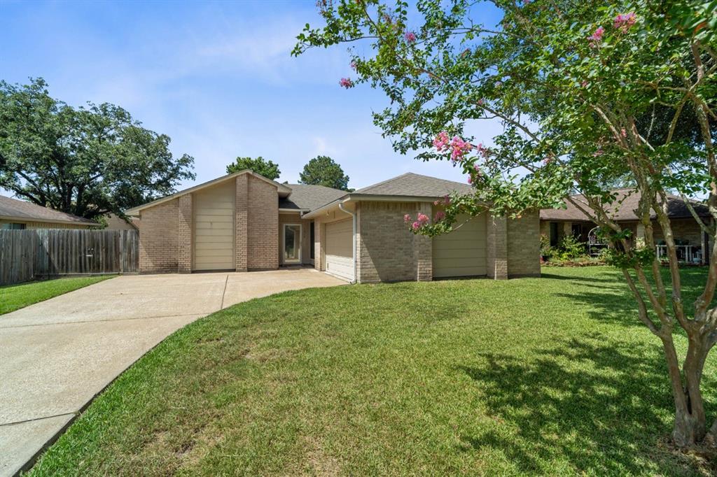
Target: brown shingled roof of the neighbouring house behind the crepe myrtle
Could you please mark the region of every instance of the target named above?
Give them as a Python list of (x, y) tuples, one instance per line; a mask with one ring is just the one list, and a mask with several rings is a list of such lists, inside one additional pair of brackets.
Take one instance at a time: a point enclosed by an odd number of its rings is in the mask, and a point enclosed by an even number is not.
[[(637, 204), (640, 202), (640, 193), (633, 188), (615, 189), (615, 200), (607, 206), (607, 212), (616, 221), (637, 221)], [(582, 195), (572, 196), (575, 201), (584, 203), (585, 199)], [(700, 216), (710, 215), (705, 204), (698, 201), (690, 201), (695, 212)], [(589, 221), (579, 208), (573, 205), (567, 199), (565, 200), (566, 208), (548, 208), (540, 211), (540, 218), (543, 221)], [(587, 206), (586, 206), (587, 208)], [(679, 196), (668, 194), (668, 216), (670, 218), (689, 218), (692, 217), (687, 203)], [(655, 218), (655, 213), (651, 214)]]

